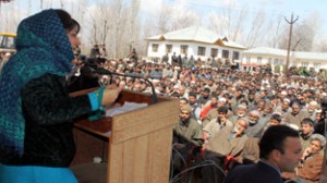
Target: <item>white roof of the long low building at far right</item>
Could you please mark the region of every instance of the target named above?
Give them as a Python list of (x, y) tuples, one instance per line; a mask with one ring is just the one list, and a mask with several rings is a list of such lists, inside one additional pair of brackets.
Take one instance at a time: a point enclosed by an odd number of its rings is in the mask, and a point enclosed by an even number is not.
[[(243, 51), (244, 54), (268, 54), (277, 57), (287, 57), (288, 51), (277, 48), (257, 47)], [(327, 60), (327, 53), (325, 52), (302, 52), (302, 51), (291, 51), (290, 57), (295, 59), (304, 60)]]

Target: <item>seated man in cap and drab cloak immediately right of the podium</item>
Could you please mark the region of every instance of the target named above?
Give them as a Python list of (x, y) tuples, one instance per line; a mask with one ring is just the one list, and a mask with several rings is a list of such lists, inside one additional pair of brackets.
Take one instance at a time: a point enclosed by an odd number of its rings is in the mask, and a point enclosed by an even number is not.
[(180, 120), (173, 127), (172, 159), (174, 173), (181, 171), (192, 150), (201, 149), (203, 144), (201, 125), (192, 118), (192, 108), (184, 105), (180, 110)]

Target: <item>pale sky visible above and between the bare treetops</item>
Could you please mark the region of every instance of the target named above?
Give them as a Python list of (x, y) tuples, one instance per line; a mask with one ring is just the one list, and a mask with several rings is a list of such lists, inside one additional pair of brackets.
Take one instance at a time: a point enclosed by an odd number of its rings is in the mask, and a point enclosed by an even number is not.
[[(32, 1), (32, 7), (28, 5), (28, 2)], [(44, 9), (49, 8), (47, 4), (52, 4), (52, 8), (61, 8), (62, 3), (70, 4), (77, 2), (78, 0), (43, 0)], [(94, 5), (96, 2), (106, 1), (106, 0), (85, 0), (88, 5)], [(123, 0), (131, 1), (131, 0)], [(169, 5), (179, 4), (184, 9), (195, 11), (203, 21), (206, 20), (208, 14), (215, 12), (219, 13), (231, 8), (235, 11), (241, 11), (246, 8), (250, 14), (256, 14), (258, 11), (264, 11), (267, 16), (277, 16), (282, 15), (286, 19), (290, 20), (291, 14), (293, 13), (294, 19), (299, 16), (298, 22), (306, 21), (306, 17), (316, 14), (319, 22), (318, 35), (322, 38), (327, 39), (327, 0), (140, 0), (141, 1), (141, 16), (152, 16), (159, 12), (162, 2), (166, 2)], [(19, 10), (14, 10), (11, 4), (19, 7)], [(21, 11), (23, 13), (15, 13), (23, 16), (40, 11), (40, 0), (14, 0), (11, 3), (1, 4), (1, 14), (0, 14), (0, 32), (1, 21), (3, 16), (8, 15), (8, 12)], [(70, 8), (71, 9), (71, 8)], [(68, 11), (70, 10), (68, 9)], [(5, 14), (7, 12), (7, 14)]]

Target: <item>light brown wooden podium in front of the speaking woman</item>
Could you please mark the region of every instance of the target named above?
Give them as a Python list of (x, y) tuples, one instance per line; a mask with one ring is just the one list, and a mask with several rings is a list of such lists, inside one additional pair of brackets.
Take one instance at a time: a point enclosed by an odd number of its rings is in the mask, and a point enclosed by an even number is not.
[(123, 105), (124, 101), (146, 102), (148, 107), (75, 123), (76, 156), (72, 167), (93, 164), (93, 157), (102, 155), (108, 161), (102, 166), (107, 169), (104, 182), (169, 182), (172, 127), (179, 119), (178, 100), (159, 97), (159, 102), (153, 105), (149, 95), (123, 90), (117, 102)]

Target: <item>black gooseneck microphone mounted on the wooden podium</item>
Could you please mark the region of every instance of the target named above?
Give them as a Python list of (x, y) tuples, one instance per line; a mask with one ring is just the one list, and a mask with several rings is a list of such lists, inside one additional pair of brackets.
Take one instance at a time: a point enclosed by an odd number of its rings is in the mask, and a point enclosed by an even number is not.
[(124, 77), (133, 77), (133, 78), (142, 78), (144, 80), (146, 83), (148, 83), (152, 87), (152, 98), (153, 98), (153, 103), (157, 103), (158, 102), (158, 97), (157, 97), (157, 93), (156, 93), (156, 89), (155, 89), (155, 86), (154, 84), (145, 78), (145, 77), (142, 77), (142, 76), (136, 76), (136, 75), (129, 75), (129, 74), (120, 74), (120, 73), (114, 73), (114, 72), (110, 72), (104, 68), (97, 68), (96, 70), (93, 71), (94, 73), (96, 74), (99, 74), (99, 75), (109, 75), (110, 76), (110, 84), (112, 83), (112, 75), (119, 75), (119, 76), (124, 76)]

